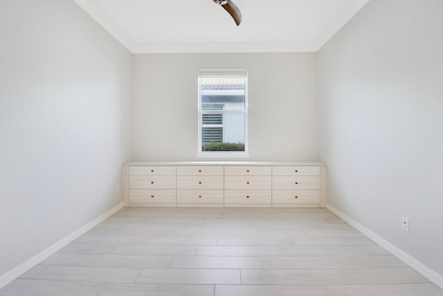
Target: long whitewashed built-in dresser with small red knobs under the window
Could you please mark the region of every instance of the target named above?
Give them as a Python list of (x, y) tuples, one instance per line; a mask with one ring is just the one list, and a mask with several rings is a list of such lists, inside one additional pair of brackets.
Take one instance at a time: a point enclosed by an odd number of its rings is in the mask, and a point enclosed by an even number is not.
[(318, 162), (129, 162), (129, 207), (325, 207)]

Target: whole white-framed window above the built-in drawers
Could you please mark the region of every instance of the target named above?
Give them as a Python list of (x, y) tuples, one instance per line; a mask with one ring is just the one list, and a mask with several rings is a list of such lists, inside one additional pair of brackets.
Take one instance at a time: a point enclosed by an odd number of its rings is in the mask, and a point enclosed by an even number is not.
[(246, 69), (199, 70), (199, 155), (248, 153)]

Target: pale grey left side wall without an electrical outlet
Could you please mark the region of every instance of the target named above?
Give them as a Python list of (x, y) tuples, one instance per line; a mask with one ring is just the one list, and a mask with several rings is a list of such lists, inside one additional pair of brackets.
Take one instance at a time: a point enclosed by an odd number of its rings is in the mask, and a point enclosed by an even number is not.
[(132, 55), (71, 0), (0, 9), (0, 278), (123, 201)]

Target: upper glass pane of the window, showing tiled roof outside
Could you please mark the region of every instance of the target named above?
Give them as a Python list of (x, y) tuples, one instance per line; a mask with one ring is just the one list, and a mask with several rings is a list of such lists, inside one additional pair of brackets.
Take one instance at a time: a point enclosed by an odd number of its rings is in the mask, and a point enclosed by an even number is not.
[(201, 78), (201, 109), (244, 110), (245, 78)]

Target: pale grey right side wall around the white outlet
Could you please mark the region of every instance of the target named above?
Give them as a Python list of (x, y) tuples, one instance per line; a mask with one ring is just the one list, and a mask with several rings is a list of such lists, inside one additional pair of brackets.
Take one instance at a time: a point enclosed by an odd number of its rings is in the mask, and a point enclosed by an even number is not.
[(372, 0), (317, 55), (327, 202), (440, 275), (442, 11), (441, 0)]

